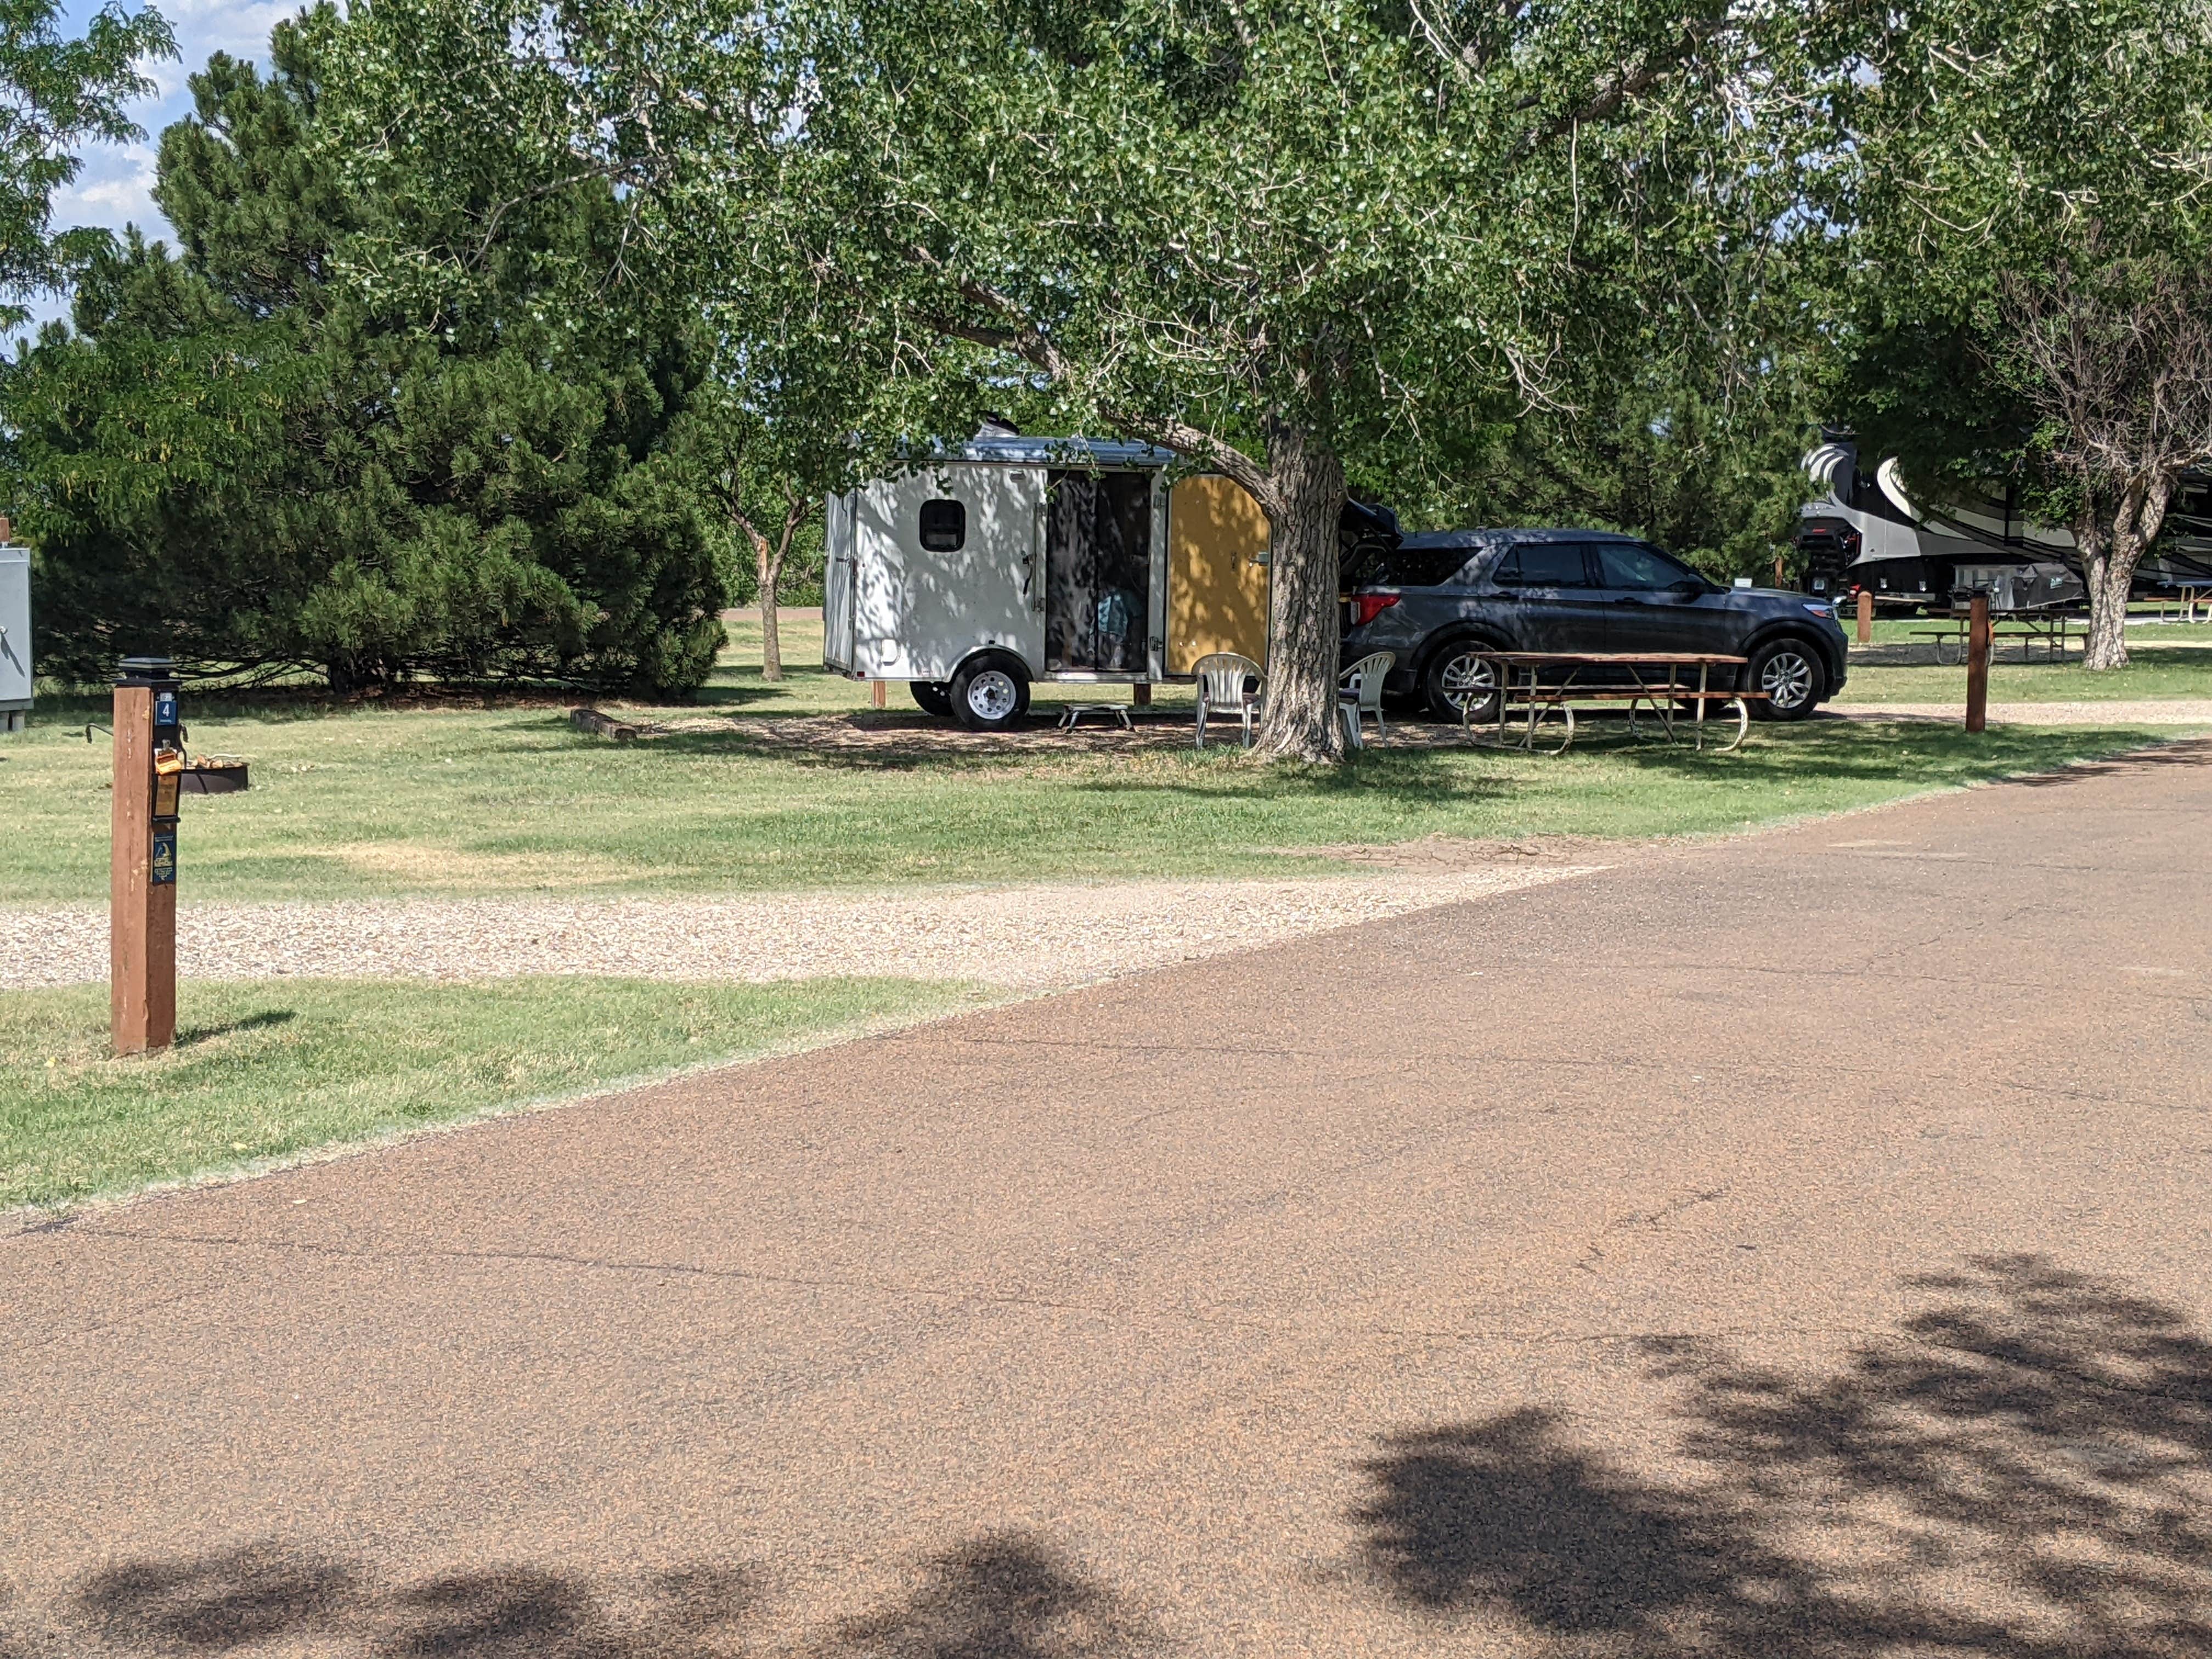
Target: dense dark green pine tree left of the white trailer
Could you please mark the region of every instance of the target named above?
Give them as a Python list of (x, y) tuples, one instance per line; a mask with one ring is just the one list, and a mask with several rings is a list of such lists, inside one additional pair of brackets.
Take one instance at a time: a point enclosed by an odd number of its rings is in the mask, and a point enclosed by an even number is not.
[[(80, 334), (0, 380), (42, 661), (695, 688), (728, 586), (668, 453), (697, 325), (568, 303), (624, 257), (602, 181), (489, 234), (356, 190), (321, 126), (338, 29), (327, 9), (279, 24), (268, 80), (223, 58), (195, 75), (157, 186), (181, 252), (133, 237), (95, 259)], [(467, 250), (469, 281), (338, 279), (403, 239)]]

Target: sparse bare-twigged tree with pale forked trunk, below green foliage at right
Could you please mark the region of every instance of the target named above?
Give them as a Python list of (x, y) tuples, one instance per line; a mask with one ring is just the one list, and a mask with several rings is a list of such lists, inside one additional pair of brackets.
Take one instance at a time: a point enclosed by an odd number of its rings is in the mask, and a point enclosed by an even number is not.
[[(2090, 239), (2086, 252), (2095, 254)], [(2070, 484), (2090, 668), (2128, 666), (2128, 593), (2181, 476), (2212, 465), (2212, 281), (2166, 257), (2002, 285), (2004, 369)]]

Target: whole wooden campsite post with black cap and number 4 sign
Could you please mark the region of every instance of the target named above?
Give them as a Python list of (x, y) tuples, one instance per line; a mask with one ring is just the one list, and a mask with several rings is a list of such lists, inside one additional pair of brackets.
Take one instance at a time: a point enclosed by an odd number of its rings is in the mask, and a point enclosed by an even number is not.
[[(161, 765), (166, 761), (168, 765)], [(184, 728), (161, 657), (126, 657), (115, 684), (108, 803), (108, 1033), (119, 1055), (177, 1035), (177, 787)], [(166, 790), (166, 799), (155, 799)]]

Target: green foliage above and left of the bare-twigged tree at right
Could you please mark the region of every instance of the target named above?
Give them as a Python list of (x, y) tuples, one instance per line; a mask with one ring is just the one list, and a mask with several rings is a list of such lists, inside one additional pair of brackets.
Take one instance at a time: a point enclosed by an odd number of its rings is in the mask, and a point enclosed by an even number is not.
[[(2194, 0), (1916, 0), (1851, 40), (1827, 210), (1838, 405), (1931, 493), (1991, 480), (2077, 511), (2017, 374), (2006, 283), (2212, 252), (2212, 13)], [(2046, 434), (2048, 438), (2051, 434)]]

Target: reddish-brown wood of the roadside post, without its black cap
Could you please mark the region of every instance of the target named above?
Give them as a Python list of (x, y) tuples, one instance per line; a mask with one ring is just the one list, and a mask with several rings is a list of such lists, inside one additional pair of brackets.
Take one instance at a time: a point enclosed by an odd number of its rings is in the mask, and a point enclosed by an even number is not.
[[(177, 1037), (177, 838), (155, 869), (153, 686), (115, 688), (115, 796), (108, 803), (108, 1031), (119, 1055)], [(161, 874), (161, 880), (155, 876)]]

